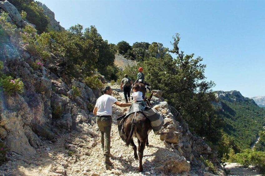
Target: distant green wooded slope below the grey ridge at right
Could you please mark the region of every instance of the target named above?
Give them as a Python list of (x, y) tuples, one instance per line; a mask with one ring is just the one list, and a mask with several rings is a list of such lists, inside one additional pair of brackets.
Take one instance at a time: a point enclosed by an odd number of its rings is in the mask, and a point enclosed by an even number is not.
[(265, 111), (250, 101), (228, 102), (221, 100), (220, 114), (226, 124), (224, 132), (233, 136), (240, 149), (247, 149), (264, 130)]

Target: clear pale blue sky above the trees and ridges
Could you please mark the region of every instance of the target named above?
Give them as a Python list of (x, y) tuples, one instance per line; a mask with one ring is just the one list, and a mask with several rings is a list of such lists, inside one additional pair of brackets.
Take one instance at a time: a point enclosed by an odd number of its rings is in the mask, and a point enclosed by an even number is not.
[(65, 29), (96, 26), (104, 40), (159, 42), (201, 56), (213, 90), (265, 96), (265, 1), (38, 0)]

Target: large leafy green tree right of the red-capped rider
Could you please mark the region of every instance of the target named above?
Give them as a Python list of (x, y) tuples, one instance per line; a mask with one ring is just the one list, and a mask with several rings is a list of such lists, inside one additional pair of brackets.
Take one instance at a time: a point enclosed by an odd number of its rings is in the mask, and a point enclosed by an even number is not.
[(194, 59), (194, 54), (184, 56), (178, 47), (179, 34), (173, 39), (170, 52), (177, 55), (176, 59), (163, 45), (153, 42), (149, 46), (150, 57), (143, 64), (145, 80), (164, 91), (164, 98), (182, 114), (192, 131), (217, 141), (222, 122), (211, 104), (217, 101), (210, 90), (214, 83), (205, 80), (206, 65), (200, 63), (203, 59)]

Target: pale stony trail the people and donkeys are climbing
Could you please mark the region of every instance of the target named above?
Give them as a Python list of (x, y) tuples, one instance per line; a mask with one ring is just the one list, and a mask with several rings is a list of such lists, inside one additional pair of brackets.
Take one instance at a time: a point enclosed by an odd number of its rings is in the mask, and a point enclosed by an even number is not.
[[(112, 86), (113, 96), (125, 101), (119, 85)], [(100, 132), (96, 118), (92, 116), (90, 123), (80, 124), (76, 131), (60, 131), (56, 140), (43, 140), (43, 145), (35, 155), (22, 156), (10, 153), (9, 161), (0, 168), (0, 175), (20, 176), (79, 176), (79, 175), (187, 175), (163, 173), (163, 161), (172, 155), (170, 146), (159, 139), (153, 131), (149, 135), (150, 146), (145, 147), (143, 172), (138, 172), (139, 161), (134, 159), (133, 149), (127, 147), (118, 133), (116, 119), (122, 116), (128, 107), (113, 106), (113, 122), (111, 129), (110, 159), (114, 169), (107, 170), (103, 164)], [(135, 144), (137, 140), (135, 138)], [(161, 170), (161, 171), (160, 171)]]

